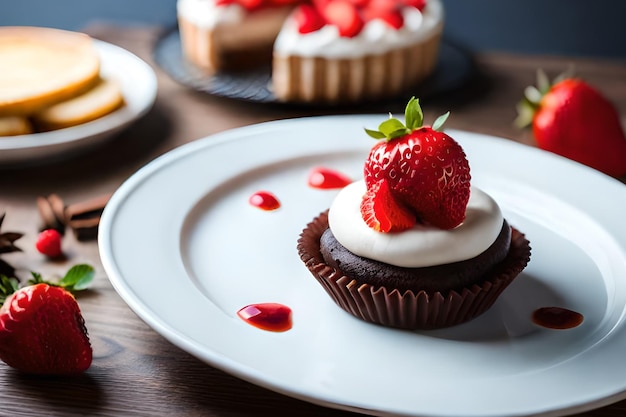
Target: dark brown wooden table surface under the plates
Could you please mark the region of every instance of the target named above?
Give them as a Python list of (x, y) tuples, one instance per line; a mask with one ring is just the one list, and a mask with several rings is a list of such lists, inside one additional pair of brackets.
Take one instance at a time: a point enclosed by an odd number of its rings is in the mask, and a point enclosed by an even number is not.
[[(6, 212), (3, 230), (25, 234), (18, 241), (23, 252), (3, 259), (21, 274), (32, 270), (61, 275), (79, 262), (90, 263), (97, 271), (92, 289), (78, 297), (94, 348), (91, 368), (77, 378), (41, 378), (21, 375), (0, 363), (0, 416), (356, 415), (257, 387), (173, 346), (113, 290), (95, 241), (79, 242), (68, 234), (64, 262), (47, 261), (35, 251), (38, 196), (56, 193), (67, 204), (83, 201), (115, 191), (138, 168), (186, 142), (252, 123), (329, 112), (235, 102), (180, 86), (154, 65), (151, 51), (159, 35), (154, 28), (92, 26), (86, 31), (152, 64), (158, 97), (146, 117), (93, 152), (43, 166), (0, 170), (0, 211)], [(501, 53), (477, 56), (477, 76), (464, 88), (424, 100), (426, 120), (451, 110), (448, 128), (532, 146), (529, 134), (512, 125), (515, 103), (524, 87), (534, 83), (537, 68), (556, 75), (570, 64), (616, 104), (626, 125), (626, 62)], [(403, 105), (404, 99), (386, 103), (385, 108), (370, 105), (333, 112), (397, 112)], [(626, 401), (577, 415), (624, 416)]]

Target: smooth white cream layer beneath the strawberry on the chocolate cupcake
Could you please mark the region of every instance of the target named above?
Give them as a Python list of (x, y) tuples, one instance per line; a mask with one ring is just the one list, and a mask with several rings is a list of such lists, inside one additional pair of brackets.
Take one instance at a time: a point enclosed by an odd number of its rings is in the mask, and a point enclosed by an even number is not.
[(365, 182), (343, 188), (333, 201), (328, 222), (335, 238), (350, 252), (406, 268), (434, 266), (471, 259), (496, 240), (504, 220), (498, 204), (472, 187), (466, 218), (451, 230), (417, 225), (400, 233), (380, 233), (361, 216)]

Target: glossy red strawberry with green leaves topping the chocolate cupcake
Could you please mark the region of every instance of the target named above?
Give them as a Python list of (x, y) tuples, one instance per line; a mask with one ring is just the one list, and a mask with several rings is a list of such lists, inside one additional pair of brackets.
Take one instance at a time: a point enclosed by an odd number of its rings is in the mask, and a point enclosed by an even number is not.
[(366, 129), (370, 136), (385, 139), (374, 145), (365, 162), (367, 192), (361, 213), (370, 227), (394, 232), (420, 222), (451, 229), (465, 219), (470, 169), (461, 146), (439, 131), (448, 114), (432, 127), (423, 126), (422, 109), (412, 98), (406, 126), (390, 118), (378, 131)]

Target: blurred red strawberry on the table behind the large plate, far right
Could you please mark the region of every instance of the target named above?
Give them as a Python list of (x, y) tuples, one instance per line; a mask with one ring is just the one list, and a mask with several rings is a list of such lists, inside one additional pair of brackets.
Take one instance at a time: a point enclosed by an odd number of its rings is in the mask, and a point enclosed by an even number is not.
[(567, 75), (550, 83), (539, 71), (538, 86), (525, 95), (516, 123), (532, 123), (539, 148), (614, 177), (626, 175), (626, 135), (615, 107), (596, 89)]

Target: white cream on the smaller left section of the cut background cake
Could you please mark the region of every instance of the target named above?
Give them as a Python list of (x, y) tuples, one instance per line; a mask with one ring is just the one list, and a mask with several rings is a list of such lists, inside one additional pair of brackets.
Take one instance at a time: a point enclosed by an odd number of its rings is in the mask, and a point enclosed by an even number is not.
[(178, 0), (176, 9), (179, 16), (206, 29), (219, 24), (241, 23), (248, 13), (238, 4), (218, 6), (215, 0)]

